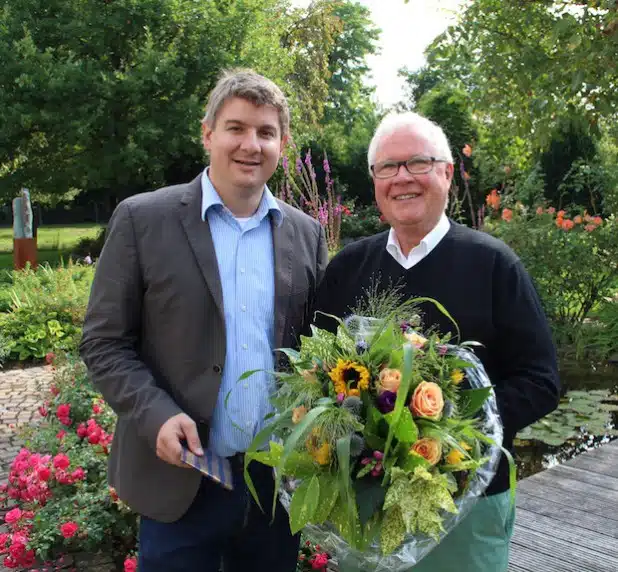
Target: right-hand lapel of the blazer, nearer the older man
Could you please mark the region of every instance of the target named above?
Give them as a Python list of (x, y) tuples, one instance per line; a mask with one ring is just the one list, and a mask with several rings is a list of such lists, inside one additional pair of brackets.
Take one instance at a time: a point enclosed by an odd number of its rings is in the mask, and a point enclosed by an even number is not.
[(275, 251), (275, 348), (283, 347), (288, 308), (292, 295), (292, 262), (296, 231), (289, 216), (280, 226), (271, 218)]

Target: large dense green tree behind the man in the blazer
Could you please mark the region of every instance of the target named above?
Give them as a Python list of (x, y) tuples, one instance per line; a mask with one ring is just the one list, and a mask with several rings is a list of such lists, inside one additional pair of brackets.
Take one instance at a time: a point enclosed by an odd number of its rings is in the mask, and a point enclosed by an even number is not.
[(317, 125), (338, 23), (327, 5), (5, 0), (0, 193), (122, 197), (194, 176), (199, 120), (224, 67), (264, 73), (284, 87), (295, 123)]

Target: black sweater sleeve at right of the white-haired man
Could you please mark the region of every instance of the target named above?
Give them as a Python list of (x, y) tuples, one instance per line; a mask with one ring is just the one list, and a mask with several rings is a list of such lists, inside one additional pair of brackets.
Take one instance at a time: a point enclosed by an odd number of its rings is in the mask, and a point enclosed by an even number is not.
[(558, 405), (556, 350), (539, 297), (519, 260), (497, 266), (493, 304), (496, 397), (505, 435), (514, 436)]

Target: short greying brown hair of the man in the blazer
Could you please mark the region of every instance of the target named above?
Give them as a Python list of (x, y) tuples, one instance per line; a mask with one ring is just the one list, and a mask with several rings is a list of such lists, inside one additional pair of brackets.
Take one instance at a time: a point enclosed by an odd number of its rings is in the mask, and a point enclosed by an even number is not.
[(274, 82), (250, 69), (223, 72), (221, 79), (210, 92), (202, 123), (213, 128), (221, 107), (226, 100), (233, 97), (246, 99), (253, 105), (272, 105), (279, 112), (281, 136), (289, 134), (290, 109), (285, 95)]

